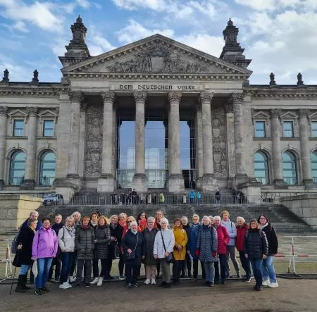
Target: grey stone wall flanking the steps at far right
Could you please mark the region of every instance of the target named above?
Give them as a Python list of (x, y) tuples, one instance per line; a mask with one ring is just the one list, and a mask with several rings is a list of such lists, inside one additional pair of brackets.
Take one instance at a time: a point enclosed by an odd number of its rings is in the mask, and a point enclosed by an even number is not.
[(289, 208), (292, 213), (311, 225), (313, 230), (317, 230), (317, 194), (281, 197), (280, 204)]

